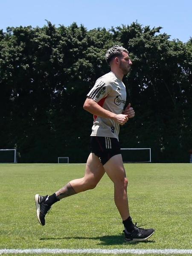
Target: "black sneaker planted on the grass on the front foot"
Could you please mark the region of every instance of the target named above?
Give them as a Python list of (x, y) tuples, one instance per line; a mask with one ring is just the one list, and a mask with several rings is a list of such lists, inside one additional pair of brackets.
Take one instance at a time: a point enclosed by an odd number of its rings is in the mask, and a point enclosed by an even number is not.
[(144, 229), (137, 227), (137, 223), (135, 224), (134, 230), (132, 232), (128, 232), (125, 228), (123, 230), (125, 233), (125, 242), (138, 242), (138, 241), (145, 241), (150, 236), (154, 234), (154, 229)]

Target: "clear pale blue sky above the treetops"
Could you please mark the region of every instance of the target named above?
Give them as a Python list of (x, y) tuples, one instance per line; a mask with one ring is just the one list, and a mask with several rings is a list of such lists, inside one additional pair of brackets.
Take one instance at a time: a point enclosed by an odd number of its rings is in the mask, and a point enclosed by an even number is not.
[(0, 0), (0, 29), (8, 26), (69, 26), (87, 29), (129, 25), (162, 26), (161, 32), (183, 42), (192, 37), (191, 0)]

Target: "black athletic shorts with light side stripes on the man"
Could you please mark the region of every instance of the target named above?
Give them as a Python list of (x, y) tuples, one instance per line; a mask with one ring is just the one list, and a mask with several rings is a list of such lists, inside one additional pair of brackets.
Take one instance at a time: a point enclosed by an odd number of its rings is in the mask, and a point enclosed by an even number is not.
[(91, 153), (99, 157), (102, 165), (111, 157), (121, 154), (119, 141), (116, 138), (91, 136), (90, 148)]

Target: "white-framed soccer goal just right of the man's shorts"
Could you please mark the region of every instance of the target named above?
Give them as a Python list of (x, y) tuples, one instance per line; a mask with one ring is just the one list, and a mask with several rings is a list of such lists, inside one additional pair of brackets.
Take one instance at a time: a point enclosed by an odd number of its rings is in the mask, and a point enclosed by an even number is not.
[(123, 163), (151, 163), (151, 148), (121, 148)]

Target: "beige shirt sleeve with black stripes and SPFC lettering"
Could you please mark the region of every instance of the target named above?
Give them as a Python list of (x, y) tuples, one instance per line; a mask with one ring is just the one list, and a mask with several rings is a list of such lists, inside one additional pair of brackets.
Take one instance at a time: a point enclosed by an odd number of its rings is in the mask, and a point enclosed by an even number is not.
[(111, 92), (111, 85), (106, 84), (101, 80), (97, 80), (93, 88), (87, 94), (87, 97), (93, 99), (95, 102), (99, 102), (101, 99), (107, 97)]

